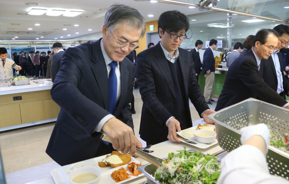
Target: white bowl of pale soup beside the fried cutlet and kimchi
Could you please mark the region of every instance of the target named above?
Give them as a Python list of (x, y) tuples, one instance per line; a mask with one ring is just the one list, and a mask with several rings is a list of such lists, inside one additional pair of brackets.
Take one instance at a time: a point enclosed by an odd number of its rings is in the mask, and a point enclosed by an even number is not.
[(72, 171), (68, 179), (71, 184), (99, 184), (100, 171), (94, 167), (81, 167)]

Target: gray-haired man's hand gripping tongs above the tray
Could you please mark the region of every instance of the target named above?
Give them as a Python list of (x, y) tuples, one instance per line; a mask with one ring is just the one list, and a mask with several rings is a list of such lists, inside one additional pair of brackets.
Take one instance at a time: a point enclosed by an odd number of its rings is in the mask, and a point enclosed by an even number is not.
[(102, 131), (110, 138), (113, 148), (121, 151), (121, 153), (130, 151), (133, 156), (136, 152), (136, 146), (142, 145), (137, 141), (132, 129), (115, 117), (103, 125)]

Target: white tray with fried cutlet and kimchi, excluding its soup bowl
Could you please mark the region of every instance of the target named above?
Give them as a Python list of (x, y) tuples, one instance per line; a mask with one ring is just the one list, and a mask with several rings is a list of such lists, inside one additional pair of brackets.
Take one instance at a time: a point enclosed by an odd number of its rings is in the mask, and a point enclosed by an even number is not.
[[(143, 173), (140, 173), (138, 170), (136, 170), (136, 168), (141, 165), (139, 161), (131, 157), (129, 154), (121, 154), (120, 152), (116, 152), (117, 151), (109, 155), (96, 157), (86, 161), (80, 161), (69, 165), (64, 165), (62, 167), (52, 169), (50, 173), (55, 184), (71, 184), (68, 178), (69, 174), (72, 171), (82, 167), (97, 168), (101, 173), (99, 184), (116, 184), (117, 182), (115, 180), (119, 181), (117, 184), (122, 184), (124, 182), (144, 176)], [(108, 158), (111, 155), (119, 156), (125, 164), (110, 164), (109, 161), (111, 160), (109, 160)], [(112, 159), (115, 160), (115, 158)], [(107, 161), (108, 164), (106, 165), (106, 163), (103, 161)], [(120, 181), (120, 178), (124, 180)]]

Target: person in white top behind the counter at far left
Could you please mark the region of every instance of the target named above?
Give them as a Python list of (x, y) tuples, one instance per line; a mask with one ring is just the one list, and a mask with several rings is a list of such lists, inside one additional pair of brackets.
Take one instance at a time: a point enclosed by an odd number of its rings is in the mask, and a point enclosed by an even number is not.
[(7, 83), (12, 78), (12, 69), (21, 70), (12, 59), (7, 58), (7, 50), (0, 47), (0, 83)]

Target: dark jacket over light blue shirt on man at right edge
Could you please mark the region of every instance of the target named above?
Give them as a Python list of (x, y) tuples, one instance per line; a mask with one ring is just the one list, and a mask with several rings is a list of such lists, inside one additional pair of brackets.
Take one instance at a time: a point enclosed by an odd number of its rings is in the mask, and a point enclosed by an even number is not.
[[(284, 69), (283, 69), (282, 53), (278, 52), (277, 55), (279, 57), (281, 73), (283, 76), (283, 89), (284, 89), (284, 92), (287, 94), (289, 92), (289, 84), (285, 78), (285, 75), (283, 74)], [(277, 79), (276, 69), (275, 69), (275, 65), (274, 65), (274, 61), (272, 59), (272, 56), (270, 56), (266, 60), (262, 59), (261, 65), (263, 65), (263, 73), (261, 73), (260, 76), (263, 77), (265, 83), (267, 83), (270, 88), (272, 88), (275, 92), (277, 92), (278, 79)], [(262, 98), (260, 98), (260, 99), (264, 100)]]

